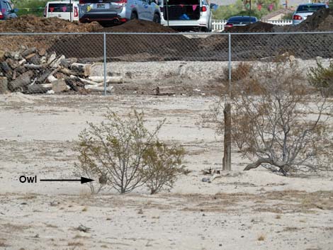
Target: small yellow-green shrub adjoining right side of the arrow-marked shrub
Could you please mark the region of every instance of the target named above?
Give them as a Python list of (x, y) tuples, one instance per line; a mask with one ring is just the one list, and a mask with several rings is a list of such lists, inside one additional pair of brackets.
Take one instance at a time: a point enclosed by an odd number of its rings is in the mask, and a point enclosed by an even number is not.
[(183, 147), (167, 147), (158, 141), (149, 145), (143, 156), (146, 166), (143, 174), (151, 194), (164, 187), (172, 188), (179, 174), (184, 174), (184, 154)]

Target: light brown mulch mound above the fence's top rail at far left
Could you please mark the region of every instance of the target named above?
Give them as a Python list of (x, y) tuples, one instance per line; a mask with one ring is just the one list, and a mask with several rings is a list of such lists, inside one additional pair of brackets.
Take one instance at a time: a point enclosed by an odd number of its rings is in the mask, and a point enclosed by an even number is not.
[(78, 23), (33, 15), (0, 22), (0, 33), (94, 32), (98, 29), (101, 29), (98, 23)]

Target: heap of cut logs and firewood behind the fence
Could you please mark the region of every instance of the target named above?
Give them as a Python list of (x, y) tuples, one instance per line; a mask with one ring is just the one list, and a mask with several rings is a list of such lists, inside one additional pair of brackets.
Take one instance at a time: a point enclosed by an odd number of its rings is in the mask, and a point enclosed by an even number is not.
[(82, 64), (77, 58), (66, 58), (45, 49), (21, 46), (13, 52), (0, 50), (0, 93), (103, 91), (103, 78), (94, 79), (90, 72), (91, 64)]

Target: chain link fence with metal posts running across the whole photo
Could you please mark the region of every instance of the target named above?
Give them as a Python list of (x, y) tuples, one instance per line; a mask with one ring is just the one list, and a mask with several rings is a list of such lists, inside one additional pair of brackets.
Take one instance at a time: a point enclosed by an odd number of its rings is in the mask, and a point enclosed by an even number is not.
[(283, 57), (307, 73), (332, 33), (2, 33), (0, 93), (216, 95), (240, 62)]

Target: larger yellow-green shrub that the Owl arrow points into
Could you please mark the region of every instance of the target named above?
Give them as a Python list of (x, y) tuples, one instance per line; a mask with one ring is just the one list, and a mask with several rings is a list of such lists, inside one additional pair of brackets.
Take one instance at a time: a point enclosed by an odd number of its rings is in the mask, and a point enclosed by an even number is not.
[[(149, 132), (145, 127), (144, 113), (133, 110), (128, 118), (120, 118), (108, 111), (105, 122), (99, 125), (89, 123), (89, 127), (79, 134), (79, 162), (75, 164), (77, 174), (98, 180), (98, 183), (94, 181), (90, 184), (93, 193), (107, 186), (119, 193), (128, 193), (145, 185), (149, 181), (148, 177), (159, 181), (157, 176), (148, 174), (149, 169), (155, 167), (154, 163), (167, 160), (163, 158), (165, 156), (181, 159), (182, 152), (176, 147), (164, 147), (165, 154), (159, 154), (157, 134), (164, 121)], [(171, 166), (167, 161), (164, 164), (159, 166), (159, 174), (168, 176)], [(169, 180), (162, 181), (159, 190), (172, 181), (174, 176), (171, 175)]]

